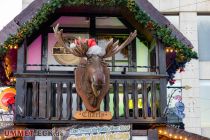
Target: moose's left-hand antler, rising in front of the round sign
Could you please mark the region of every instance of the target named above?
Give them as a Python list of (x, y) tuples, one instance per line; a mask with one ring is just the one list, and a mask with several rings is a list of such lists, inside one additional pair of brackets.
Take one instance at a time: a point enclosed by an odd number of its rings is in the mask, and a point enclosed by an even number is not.
[(59, 24), (57, 24), (55, 27), (53, 27), (53, 31), (55, 33), (55, 37), (58, 40), (58, 43), (67, 49), (71, 54), (77, 56), (77, 57), (85, 57), (86, 52), (88, 51), (87, 42), (82, 42), (80, 39), (78, 43), (76, 43), (76, 47), (70, 48), (63, 39), (63, 29), (58, 30)]

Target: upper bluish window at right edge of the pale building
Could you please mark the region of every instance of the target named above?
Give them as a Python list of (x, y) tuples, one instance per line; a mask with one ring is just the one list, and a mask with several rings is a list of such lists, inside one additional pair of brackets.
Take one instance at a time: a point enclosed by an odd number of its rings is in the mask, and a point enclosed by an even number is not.
[(200, 61), (210, 61), (210, 16), (198, 16), (198, 51)]

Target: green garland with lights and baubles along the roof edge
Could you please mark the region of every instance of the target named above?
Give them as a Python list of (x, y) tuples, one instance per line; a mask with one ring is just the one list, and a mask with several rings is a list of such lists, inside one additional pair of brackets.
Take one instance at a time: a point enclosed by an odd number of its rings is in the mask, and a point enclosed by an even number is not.
[[(6, 53), (11, 48), (18, 48), (24, 38), (30, 37), (33, 32), (39, 30), (40, 25), (47, 22), (49, 15), (53, 14), (56, 9), (62, 6), (98, 6), (98, 7), (110, 7), (121, 6), (127, 7), (130, 12), (133, 13), (135, 19), (143, 25), (146, 29), (151, 31), (154, 36), (162, 41), (166, 47), (176, 50), (174, 57), (175, 61), (171, 64), (171, 67), (167, 70), (169, 74), (169, 80), (173, 79), (175, 72), (180, 68), (184, 68), (185, 63), (189, 62), (192, 58), (198, 58), (197, 53), (192, 50), (192, 46), (186, 46), (174, 35), (169, 27), (159, 25), (156, 21), (138, 7), (134, 0), (109, 0), (109, 1), (92, 1), (92, 0), (49, 0), (43, 4), (42, 8), (31, 19), (24, 23), (17, 31), (16, 34), (7, 38), (4, 44), (0, 44), (0, 60), (3, 60)], [(175, 66), (173, 66), (175, 65)], [(0, 68), (1, 71), (1, 68)], [(2, 73), (1, 73), (2, 74)], [(2, 77), (1, 77), (2, 80)]]

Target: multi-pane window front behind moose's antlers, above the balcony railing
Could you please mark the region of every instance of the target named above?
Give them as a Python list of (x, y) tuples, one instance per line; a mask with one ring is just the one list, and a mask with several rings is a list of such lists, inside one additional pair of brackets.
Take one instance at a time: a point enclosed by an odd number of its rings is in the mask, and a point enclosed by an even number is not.
[[(61, 16), (50, 27), (46, 27), (48, 34), (42, 34), (38, 41), (35, 40), (32, 43), (37, 44), (38, 42), (38, 45), (29, 46), (28, 64), (33, 64), (32, 67), (39, 64), (39, 69), (28, 70), (73, 71), (74, 66), (80, 62), (81, 58), (75, 57), (66, 52), (63, 47), (59, 47), (52, 30), (52, 27), (55, 27), (58, 23), (60, 29), (63, 29), (64, 39), (67, 40), (70, 36), (94, 37), (98, 45), (104, 50), (105, 45), (111, 38), (114, 41), (119, 40), (119, 44), (122, 44), (130, 33), (127, 28), (129, 25), (122, 17)], [(39, 62), (38, 60), (32, 62), (32, 57), (29, 57), (35, 54), (33, 48), (37, 48), (36, 56), (39, 57)], [(156, 52), (155, 43), (144, 44), (142, 40), (136, 38), (120, 52), (107, 58), (106, 62), (112, 72), (156, 72), (156, 68), (151, 68), (156, 66)]]

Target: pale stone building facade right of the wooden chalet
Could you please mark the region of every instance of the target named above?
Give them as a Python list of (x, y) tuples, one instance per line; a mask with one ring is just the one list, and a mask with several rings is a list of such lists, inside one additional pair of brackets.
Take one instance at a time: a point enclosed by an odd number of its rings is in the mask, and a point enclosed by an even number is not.
[(199, 60), (176, 74), (185, 104), (185, 130), (210, 137), (210, 0), (149, 0), (193, 44)]

